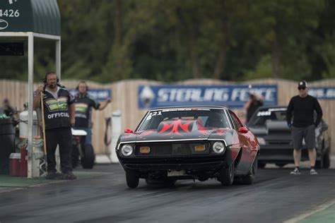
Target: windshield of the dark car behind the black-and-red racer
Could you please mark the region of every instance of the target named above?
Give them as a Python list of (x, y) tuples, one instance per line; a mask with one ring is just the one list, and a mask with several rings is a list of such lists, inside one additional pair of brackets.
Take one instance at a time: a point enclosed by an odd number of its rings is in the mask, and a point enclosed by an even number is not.
[(286, 121), (286, 108), (259, 109), (248, 125), (265, 126), (266, 121)]

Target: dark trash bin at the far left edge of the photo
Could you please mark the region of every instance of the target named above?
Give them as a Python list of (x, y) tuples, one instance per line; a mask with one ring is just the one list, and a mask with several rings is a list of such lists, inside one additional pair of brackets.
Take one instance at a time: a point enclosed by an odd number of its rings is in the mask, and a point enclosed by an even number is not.
[(9, 174), (9, 156), (15, 152), (15, 128), (12, 119), (0, 119), (0, 174)]

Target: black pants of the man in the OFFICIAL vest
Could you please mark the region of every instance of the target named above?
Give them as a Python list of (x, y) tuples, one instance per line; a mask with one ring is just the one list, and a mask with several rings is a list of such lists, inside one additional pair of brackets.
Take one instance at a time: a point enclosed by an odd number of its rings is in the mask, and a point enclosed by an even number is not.
[(61, 159), (61, 172), (66, 174), (72, 171), (71, 151), (72, 133), (71, 128), (52, 128), (45, 131), (47, 141), (47, 171), (56, 171), (56, 152), (59, 145), (59, 157)]

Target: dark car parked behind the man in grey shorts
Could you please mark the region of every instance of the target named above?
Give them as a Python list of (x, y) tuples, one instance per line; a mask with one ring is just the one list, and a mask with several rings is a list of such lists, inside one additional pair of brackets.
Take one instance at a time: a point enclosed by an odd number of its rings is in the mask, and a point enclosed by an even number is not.
[[(286, 109), (287, 107), (260, 107), (247, 123), (250, 131), (257, 135), (261, 147), (259, 167), (265, 167), (266, 163), (274, 163), (279, 167), (294, 163), (293, 143), (290, 128), (286, 122)], [(315, 136), (316, 166), (329, 168), (331, 141), (328, 125), (324, 120), (315, 128)], [(302, 145), (305, 145), (305, 142), (302, 142)], [(306, 147), (302, 148), (301, 160), (309, 160)]]

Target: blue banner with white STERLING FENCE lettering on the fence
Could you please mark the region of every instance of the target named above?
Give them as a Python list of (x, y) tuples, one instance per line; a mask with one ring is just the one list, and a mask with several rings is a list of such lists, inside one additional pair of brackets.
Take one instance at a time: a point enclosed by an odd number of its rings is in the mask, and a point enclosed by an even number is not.
[(277, 85), (139, 85), (139, 108), (222, 105), (242, 108), (249, 93), (262, 95), (264, 105), (277, 104)]

